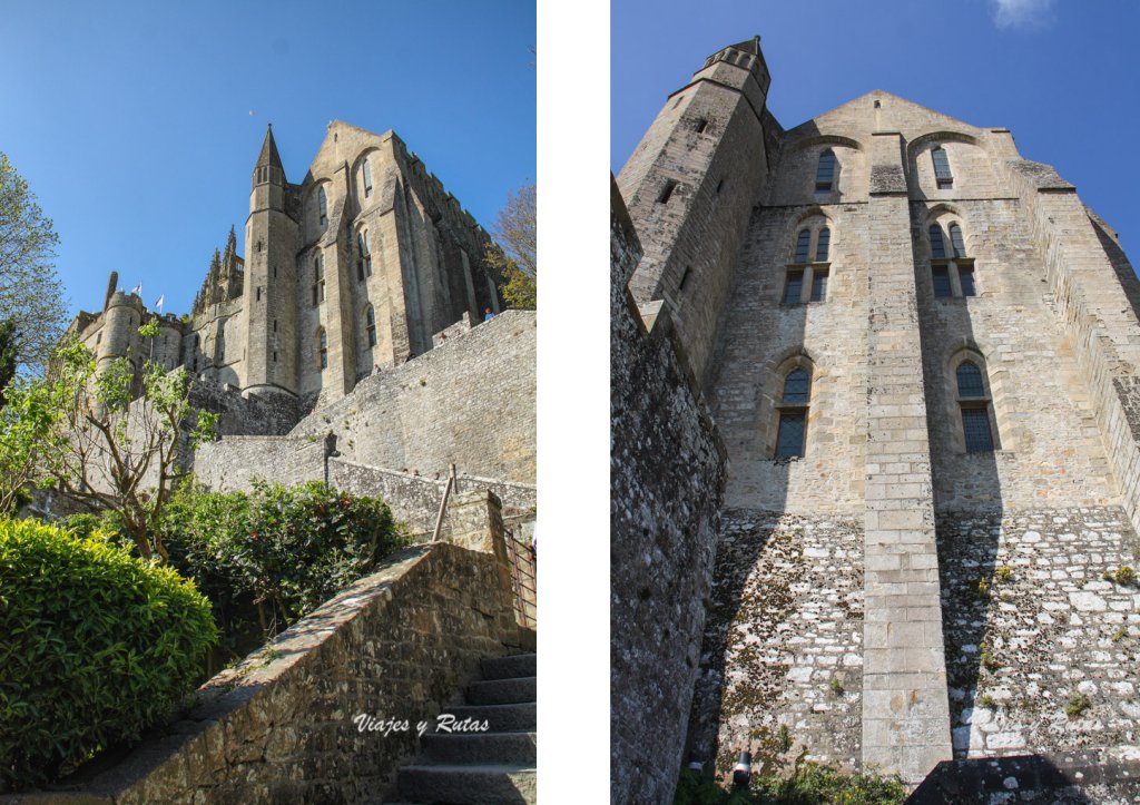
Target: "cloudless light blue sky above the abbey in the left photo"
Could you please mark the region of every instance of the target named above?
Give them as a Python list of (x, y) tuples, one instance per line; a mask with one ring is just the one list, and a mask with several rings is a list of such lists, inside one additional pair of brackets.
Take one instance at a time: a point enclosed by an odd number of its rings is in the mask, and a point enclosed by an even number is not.
[(187, 312), (249, 214), (266, 124), (290, 181), (328, 121), (394, 129), (490, 229), (536, 178), (532, 2), (5, 0), (0, 151), (60, 237), (70, 311), (107, 274)]

